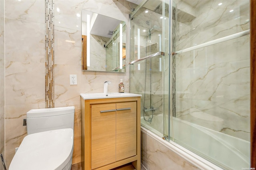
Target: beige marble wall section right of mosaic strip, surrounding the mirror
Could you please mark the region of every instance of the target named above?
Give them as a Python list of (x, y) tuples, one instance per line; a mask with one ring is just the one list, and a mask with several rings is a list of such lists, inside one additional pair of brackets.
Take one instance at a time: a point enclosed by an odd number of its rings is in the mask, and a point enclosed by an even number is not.
[[(63, 3), (64, 2), (64, 3)], [(106, 80), (112, 83), (109, 92), (118, 92), (120, 79), (124, 79), (125, 92), (129, 90), (129, 69), (126, 73), (81, 71), (81, 14), (82, 9), (106, 15), (128, 23), (133, 4), (124, 0), (55, 0), (55, 107), (74, 105), (76, 109), (75, 145), (73, 163), (80, 162), (80, 93), (103, 92)], [(57, 10), (55, 10), (57, 11)], [(127, 25), (128, 27), (128, 25)], [(128, 35), (127, 35), (128, 36)], [(126, 38), (127, 39), (127, 38)], [(66, 41), (69, 40), (69, 41)], [(70, 43), (72, 42), (72, 43)], [(76, 74), (78, 85), (69, 85), (69, 74)]]

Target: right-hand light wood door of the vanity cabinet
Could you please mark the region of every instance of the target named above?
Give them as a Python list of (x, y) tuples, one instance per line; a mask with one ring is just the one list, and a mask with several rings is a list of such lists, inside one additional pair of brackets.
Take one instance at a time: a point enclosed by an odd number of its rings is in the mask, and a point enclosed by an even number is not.
[(136, 155), (136, 102), (116, 104), (116, 161)]

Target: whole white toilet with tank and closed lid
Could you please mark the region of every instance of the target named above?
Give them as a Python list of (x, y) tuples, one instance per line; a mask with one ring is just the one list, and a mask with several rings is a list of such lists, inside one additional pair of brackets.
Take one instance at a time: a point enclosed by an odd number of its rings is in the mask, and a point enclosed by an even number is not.
[(74, 106), (28, 111), (28, 135), (9, 170), (71, 170), (74, 113)]

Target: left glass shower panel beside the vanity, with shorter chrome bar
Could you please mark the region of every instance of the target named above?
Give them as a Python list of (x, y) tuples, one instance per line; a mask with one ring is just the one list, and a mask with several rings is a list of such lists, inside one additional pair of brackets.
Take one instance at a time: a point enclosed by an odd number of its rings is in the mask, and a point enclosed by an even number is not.
[(141, 125), (160, 137), (169, 109), (168, 16), (169, 4), (156, 0), (130, 15), (130, 92), (142, 95)]

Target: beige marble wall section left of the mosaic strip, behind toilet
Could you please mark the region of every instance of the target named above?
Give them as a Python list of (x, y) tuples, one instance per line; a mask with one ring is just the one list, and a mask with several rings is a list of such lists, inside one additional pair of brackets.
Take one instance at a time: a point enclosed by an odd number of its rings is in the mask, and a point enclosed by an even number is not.
[(5, 160), (26, 136), (26, 112), (45, 107), (44, 1), (5, 0)]

